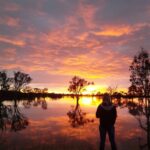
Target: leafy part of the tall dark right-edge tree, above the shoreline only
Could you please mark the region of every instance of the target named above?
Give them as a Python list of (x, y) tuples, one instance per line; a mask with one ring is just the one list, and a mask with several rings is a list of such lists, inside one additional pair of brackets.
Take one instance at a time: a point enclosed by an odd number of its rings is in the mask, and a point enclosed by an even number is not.
[[(150, 93), (150, 57), (143, 48), (141, 52), (134, 57), (130, 66), (130, 81), (132, 91), (137, 95), (149, 96)], [(134, 88), (133, 88), (134, 87)]]

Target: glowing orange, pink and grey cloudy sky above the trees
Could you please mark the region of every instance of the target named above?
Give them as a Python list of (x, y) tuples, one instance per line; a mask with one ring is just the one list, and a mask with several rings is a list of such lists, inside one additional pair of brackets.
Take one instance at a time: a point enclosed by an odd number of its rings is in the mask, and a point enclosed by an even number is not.
[(0, 0), (0, 70), (66, 92), (78, 75), (99, 90), (129, 86), (129, 65), (150, 50), (150, 0)]

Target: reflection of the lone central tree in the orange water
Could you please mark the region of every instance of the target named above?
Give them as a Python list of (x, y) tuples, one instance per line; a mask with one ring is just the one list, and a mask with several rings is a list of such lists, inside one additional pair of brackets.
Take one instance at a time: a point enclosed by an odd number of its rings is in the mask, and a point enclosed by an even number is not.
[(69, 122), (72, 127), (83, 126), (86, 123), (94, 122), (94, 119), (86, 118), (86, 112), (83, 112), (79, 105), (79, 99), (77, 99), (76, 106), (71, 106), (71, 110), (67, 113)]

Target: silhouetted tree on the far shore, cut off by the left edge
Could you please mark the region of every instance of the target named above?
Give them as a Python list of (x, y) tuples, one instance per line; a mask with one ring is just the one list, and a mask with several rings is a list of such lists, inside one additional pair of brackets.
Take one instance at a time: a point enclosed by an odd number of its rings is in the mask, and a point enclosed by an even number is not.
[(10, 88), (11, 83), (12, 83), (12, 78), (9, 78), (5, 71), (1, 71), (0, 72), (0, 86), (1, 86), (1, 90), (8, 91), (9, 88)]

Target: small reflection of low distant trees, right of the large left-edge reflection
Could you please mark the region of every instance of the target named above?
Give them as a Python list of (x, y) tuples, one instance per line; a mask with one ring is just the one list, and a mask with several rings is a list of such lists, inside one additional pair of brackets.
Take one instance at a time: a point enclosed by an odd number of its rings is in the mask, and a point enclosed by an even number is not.
[(47, 109), (47, 102), (45, 98), (35, 98), (32, 101), (23, 101), (23, 105), (25, 108), (30, 108), (31, 106), (41, 106), (43, 109)]

